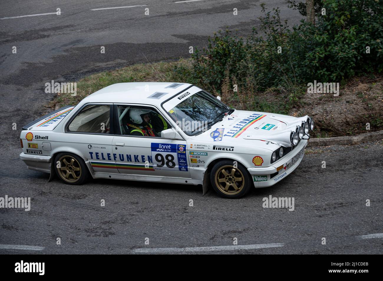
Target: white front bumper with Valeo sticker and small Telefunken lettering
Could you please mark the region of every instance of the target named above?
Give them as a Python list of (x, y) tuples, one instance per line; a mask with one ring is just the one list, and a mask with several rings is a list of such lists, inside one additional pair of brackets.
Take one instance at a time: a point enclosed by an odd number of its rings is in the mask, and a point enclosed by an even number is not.
[[(251, 167), (248, 168), (247, 171), (249, 171), (251, 177), (254, 180), (254, 187), (269, 187), (283, 178), (285, 178), (287, 175), (289, 175), (291, 172), (293, 172), (296, 167), (300, 164), (300, 162), (303, 159), (303, 155), (293, 164), (291, 165), (291, 159), (299, 153), (302, 149), (306, 148), (308, 144), (308, 140), (301, 140), (298, 145), (294, 148), (293, 151), (291, 151), (289, 154), (286, 154), (286, 157), (281, 158), (277, 162), (274, 162), (272, 166), (269, 167)], [(288, 156), (287, 156), (288, 155)], [(286, 169), (282, 168), (279, 171), (277, 171), (277, 167), (286, 167)], [(255, 177), (254, 177), (255, 176)]]

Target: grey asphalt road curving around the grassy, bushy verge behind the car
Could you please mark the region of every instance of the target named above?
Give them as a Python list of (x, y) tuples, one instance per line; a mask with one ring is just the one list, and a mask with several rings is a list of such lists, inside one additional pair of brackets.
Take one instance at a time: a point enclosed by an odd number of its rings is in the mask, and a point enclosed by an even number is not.
[[(282, 18), (296, 23), (283, 0)], [(213, 253), (383, 253), (381, 142), (306, 151), (298, 169), (270, 188), (227, 200), (201, 187), (93, 180), (65, 185), (19, 159), (23, 125), (45, 112), (51, 81), (137, 62), (188, 57), (226, 26), (246, 35), (259, 25), (257, 1), (2, 1), (0, 10), (0, 197), (31, 197), (31, 210), (0, 209), (1, 245), (43, 250), (0, 253), (137, 253), (136, 249), (274, 244)], [(91, 9), (147, 5), (132, 8)], [(52, 13), (21, 18), (14, 16)], [(149, 15), (144, 9), (149, 8)], [(238, 15), (232, 15), (233, 8)], [(5, 19), (3, 19), (5, 18)], [(12, 54), (12, 47), (17, 53)], [(100, 54), (105, 46), (105, 54)], [(17, 130), (12, 130), (16, 123)], [(326, 168), (322, 168), (326, 161)], [(263, 208), (262, 198), (295, 198), (295, 210)], [(105, 206), (100, 201), (105, 200)], [(189, 206), (189, 200), (194, 206)], [(366, 200), (370, 206), (366, 206)], [(57, 238), (61, 245), (56, 245)], [(149, 238), (149, 245), (145, 239)], [(326, 245), (322, 245), (322, 238)], [(364, 237), (368, 238), (368, 237)], [(196, 250), (196, 249), (195, 249)], [(155, 251), (155, 250), (152, 250)], [(187, 252), (194, 253), (194, 252)], [(195, 253), (206, 253), (199, 249)]]

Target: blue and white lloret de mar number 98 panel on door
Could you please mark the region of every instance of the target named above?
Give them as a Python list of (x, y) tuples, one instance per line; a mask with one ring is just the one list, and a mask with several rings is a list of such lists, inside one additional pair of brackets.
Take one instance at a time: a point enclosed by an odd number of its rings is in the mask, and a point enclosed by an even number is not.
[(152, 143), (151, 148), (155, 170), (188, 171), (186, 145)]

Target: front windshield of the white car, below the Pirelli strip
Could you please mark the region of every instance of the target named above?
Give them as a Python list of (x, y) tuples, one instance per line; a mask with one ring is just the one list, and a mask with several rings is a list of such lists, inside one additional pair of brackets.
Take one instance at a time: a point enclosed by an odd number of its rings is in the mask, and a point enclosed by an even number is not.
[(183, 99), (168, 113), (182, 131), (191, 136), (220, 121), (229, 110), (230, 107), (212, 95), (199, 91)]

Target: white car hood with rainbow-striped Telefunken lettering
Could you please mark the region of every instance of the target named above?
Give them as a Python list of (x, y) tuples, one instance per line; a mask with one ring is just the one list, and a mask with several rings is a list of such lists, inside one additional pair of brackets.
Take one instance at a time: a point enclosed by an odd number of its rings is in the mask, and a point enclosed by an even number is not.
[[(307, 120), (305, 117), (292, 117), (268, 112), (235, 110), (232, 114), (215, 123), (209, 130), (191, 137), (195, 140), (208, 140), (214, 144), (224, 143), (276, 149), (277, 146), (291, 146), (290, 134), (296, 126)], [(275, 144), (270, 146), (269, 143)]]

